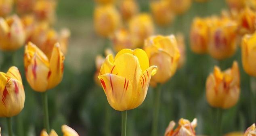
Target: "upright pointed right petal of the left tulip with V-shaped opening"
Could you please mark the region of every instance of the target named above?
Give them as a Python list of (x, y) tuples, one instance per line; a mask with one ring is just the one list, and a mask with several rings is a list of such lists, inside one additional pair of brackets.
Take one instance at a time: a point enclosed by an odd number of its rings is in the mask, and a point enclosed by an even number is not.
[(57, 86), (63, 77), (63, 70), (64, 70), (64, 55), (61, 52), (60, 45), (57, 43), (55, 44), (52, 50), (52, 56), (50, 59), (50, 71), (48, 73), (48, 87), (47, 89), (54, 88)]

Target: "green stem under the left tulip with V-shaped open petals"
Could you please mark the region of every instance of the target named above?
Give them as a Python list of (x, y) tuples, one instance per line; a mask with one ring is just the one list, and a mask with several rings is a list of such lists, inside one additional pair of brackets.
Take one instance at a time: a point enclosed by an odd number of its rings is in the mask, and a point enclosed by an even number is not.
[(48, 113), (47, 91), (42, 92), (42, 101), (43, 101), (43, 108), (44, 108), (44, 128), (46, 129), (47, 133), (49, 133), (50, 123), (49, 123), (49, 113)]

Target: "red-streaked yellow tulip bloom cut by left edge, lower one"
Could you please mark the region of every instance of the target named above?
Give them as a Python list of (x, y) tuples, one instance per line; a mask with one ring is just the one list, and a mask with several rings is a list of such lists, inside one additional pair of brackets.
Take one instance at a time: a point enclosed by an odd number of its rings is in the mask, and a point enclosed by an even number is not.
[(17, 67), (10, 67), (7, 73), (0, 72), (0, 117), (18, 115), (24, 107), (25, 92)]

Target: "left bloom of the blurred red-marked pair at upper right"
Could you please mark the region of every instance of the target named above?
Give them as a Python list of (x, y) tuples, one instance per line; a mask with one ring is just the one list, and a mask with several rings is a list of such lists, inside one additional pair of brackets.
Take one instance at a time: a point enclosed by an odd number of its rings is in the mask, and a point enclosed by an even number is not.
[(195, 18), (190, 29), (190, 48), (193, 52), (203, 54), (207, 52), (209, 43), (209, 19)]

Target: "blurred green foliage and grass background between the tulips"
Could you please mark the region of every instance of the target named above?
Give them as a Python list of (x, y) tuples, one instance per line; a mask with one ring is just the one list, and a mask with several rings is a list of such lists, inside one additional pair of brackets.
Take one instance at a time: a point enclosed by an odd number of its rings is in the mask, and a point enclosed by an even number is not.
[[(141, 12), (149, 12), (149, 0), (138, 0)], [(62, 136), (61, 125), (67, 124), (80, 136), (103, 136), (106, 126), (110, 136), (119, 136), (121, 132), (121, 112), (115, 111), (107, 103), (103, 89), (94, 84), (94, 59), (103, 52), (104, 39), (94, 33), (93, 0), (59, 0), (57, 7), (57, 30), (68, 27), (71, 38), (68, 53), (65, 56), (63, 81), (59, 86), (48, 90), (50, 128)], [(225, 110), (222, 119), (223, 134), (242, 131), (254, 121), (251, 119), (250, 76), (241, 66), (241, 50), (230, 59), (218, 62), (208, 54), (198, 55), (189, 49), (189, 30), (194, 17), (219, 15), (227, 9), (225, 0), (209, 0), (206, 3), (193, 2), (191, 8), (182, 16), (177, 16), (168, 31), (156, 27), (156, 34), (182, 32), (187, 46), (187, 63), (162, 87), (161, 108), (159, 116), (159, 133), (164, 131), (171, 120), (181, 117), (198, 119), (196, 133), (211, 135), (214, 127), (213, 109), (206, 102), (205, 82), (214, 65), (222, 70), (231, 67), (234, 60), (239, 63), (241, 72), (241, 95), (237, 105)], [(109, 43), (110, 44), (110, 43)], [(20, 69), (25, 88), (25, 107), (20, 115), (13, 118), (16, 136), (39, 136), (43, 128), (42, 100), (40, 93), (34, 92), (27, 84), (23, 67), (24, 48), (14, 54), (13, 63)], [(7, 54), (7, 55), (6, 55)], [(10, 53), (0, 52), (0, 64), (8, 59)], [(10, 62), (11, 63), (11, 62)], [(1, 71), (6, 72), (7, 66)], [(128, 111), (127, 136), (149, 136), (153, 111), (153, 89), (149, 88), (144, 103)], [(108, 111), (108, 112), (106, 112)], [(107, 123), (107, 119), (110, 123)], [(0, 119), (2, 135), (7, 136), (6, 119)], [(19, 129), (21, 128), (21, 129)]]

